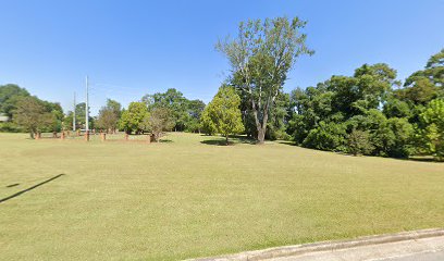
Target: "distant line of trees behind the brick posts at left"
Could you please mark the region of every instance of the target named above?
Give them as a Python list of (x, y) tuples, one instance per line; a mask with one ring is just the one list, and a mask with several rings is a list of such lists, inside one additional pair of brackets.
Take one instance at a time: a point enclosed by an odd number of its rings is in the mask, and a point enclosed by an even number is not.
[[(66, 114), (60, 103), (40, 100), (16, 85), (0, 86), (0, 132), (52, 133), (67, 129), (85, 129), (85, 102), (76, 104), (75, 112)], [(201, 100), (188, 100), (176, 89), (144, 96), (131, 102), (127, 109), (108, 99), (97, 116), (89, 116), (89, 128), (107, 133), (124, 130), (127, 134), (163, 132), (200, 132)], [(74, 121), (75, 115), (75, 121)], [(4, 119), (8, 119), (4, 121)], [(75, 125), (74, 125), (75, 123)]]

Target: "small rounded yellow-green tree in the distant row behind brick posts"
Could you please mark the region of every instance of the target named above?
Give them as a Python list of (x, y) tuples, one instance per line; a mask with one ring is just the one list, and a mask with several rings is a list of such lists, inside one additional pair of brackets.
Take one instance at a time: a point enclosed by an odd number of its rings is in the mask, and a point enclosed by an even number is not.
[(148, 108), (145, 102), (131, 102), (128, 109), (123, 111), (120, 127), (127, 134), (135, 132), (139, 134), (148, 130), (146, 122), (149, 119)]

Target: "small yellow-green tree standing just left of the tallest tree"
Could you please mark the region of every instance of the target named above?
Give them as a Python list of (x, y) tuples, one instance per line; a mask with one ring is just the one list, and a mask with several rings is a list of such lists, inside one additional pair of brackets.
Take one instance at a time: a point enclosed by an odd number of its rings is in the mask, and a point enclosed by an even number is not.
[(240, 98), (235, 89), (222, 86), (205, 109), (202, 122), (210, 121), (208, 126), (222, 134), (227, 144), (229, 135), (244, 132), (239, 105)]

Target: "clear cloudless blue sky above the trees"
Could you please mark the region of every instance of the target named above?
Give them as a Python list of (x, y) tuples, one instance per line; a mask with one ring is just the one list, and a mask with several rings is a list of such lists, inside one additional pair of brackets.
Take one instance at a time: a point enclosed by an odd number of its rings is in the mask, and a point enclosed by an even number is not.
[(168, 88), (210, 101), (229, 74), (214, 44), (247, 18), (308, 21), (316, 54), (297, 62), (286, 91), (363, 63), (403, 79), (444, 48), (444, 0), (1, 0), (0, 12), (0, 84), (71, 110), (89, 75), (92, 114), (107, 98), (127, 105)]

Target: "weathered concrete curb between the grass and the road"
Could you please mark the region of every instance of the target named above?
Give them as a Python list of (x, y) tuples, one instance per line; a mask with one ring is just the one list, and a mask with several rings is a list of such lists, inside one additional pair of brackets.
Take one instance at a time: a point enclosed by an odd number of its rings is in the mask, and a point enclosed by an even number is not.
[(313, 244), (303, 244), (286, 247), (267, 248), (262, 250), (245, 251), (240, 253), (226, 254), (220, 257), (188, 259), (188, 261), (252, 261), (272, 258), (294, 257), (310, 252), (332, 251), (338, 249), (378, 245), (385, 243), (396, 243), (405, 240), (416, 240), (429, 237), (444, 236), (444, 228), (421, 229), (414, 232), (403, 232), (396, 234), (384, 234), (377, 236), (363, 236), (351, 240), (320, 241)]

